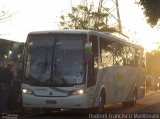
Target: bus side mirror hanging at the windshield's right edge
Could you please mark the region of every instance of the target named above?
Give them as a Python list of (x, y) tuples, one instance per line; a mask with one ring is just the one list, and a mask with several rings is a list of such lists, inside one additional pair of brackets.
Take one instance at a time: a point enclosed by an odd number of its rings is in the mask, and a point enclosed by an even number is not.
[(85, 43), (84, 46), (84, 52), (85, 52), (85, 60), (90, 60), (92, 57), (92, 43), (91, 42), (87, 42)]

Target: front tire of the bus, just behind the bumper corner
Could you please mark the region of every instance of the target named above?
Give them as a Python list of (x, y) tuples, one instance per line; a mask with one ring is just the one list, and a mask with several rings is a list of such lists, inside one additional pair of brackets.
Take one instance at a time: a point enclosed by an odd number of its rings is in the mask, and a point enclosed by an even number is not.
[(99, 113), (103, 113), (104, 112), (104, 105), (105, 105), (105, 91), (102, 90), (101, 93), (100, 93), (100, 96), (99, 96), (99, 105), (98, 105), (98, 112)]

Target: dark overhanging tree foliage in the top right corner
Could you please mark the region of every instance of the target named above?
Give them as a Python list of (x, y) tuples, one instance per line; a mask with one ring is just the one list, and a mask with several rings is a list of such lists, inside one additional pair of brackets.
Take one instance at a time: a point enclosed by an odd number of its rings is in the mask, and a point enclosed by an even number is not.
[(140, 0), (138, 2), (147, 18), (147, 22), (154, 27), (160, 19), (160, 0)]

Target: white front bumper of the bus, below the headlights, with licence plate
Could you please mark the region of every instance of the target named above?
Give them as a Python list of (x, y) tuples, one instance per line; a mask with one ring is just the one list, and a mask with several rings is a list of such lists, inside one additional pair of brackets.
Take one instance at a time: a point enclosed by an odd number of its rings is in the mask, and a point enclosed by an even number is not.
[(24, 108), (90, 108), (86, 94), (70, 95), (66, 97), (40, 97), (35, 95), (22, 94)]

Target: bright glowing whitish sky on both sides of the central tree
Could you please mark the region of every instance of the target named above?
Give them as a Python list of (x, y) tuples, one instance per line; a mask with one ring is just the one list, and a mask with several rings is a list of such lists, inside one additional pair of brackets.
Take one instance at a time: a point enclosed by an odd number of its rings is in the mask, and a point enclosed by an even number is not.
[[(13, 14), (0, 21), (0, 38), (24, 42), (31, 31), (59, 29), (58, 18), (69, 12), (71, 0), (0, 0), (0, 8)], [(147, 24), (141, 6), (135, 0), (119, 0), (119, 12), (123, 33), (152, 50), (160, 41), (160, 30)]]

